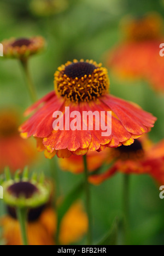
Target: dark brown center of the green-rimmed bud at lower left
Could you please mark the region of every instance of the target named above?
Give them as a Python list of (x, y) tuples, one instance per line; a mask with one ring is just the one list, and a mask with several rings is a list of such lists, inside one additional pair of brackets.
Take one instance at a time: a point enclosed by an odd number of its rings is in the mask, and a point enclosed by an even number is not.
[(30, 182), (18, 182), (8, 188), (9, 193), (16, 197), (25, 196), (26, 199), (32, 197), (38, 191), (37, 187)]

